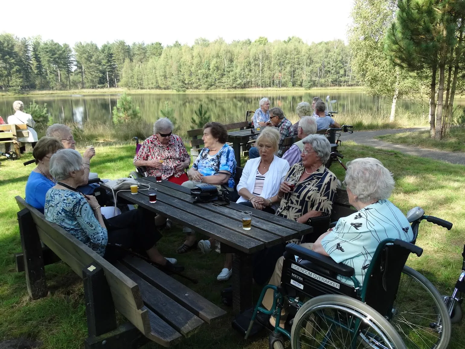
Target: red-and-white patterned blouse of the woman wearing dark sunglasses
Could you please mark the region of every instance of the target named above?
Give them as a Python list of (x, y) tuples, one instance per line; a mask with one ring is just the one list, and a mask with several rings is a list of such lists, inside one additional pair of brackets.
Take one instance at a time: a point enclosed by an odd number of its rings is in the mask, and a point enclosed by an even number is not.
[[(156, 134), (142, 142), (139, 151), (134, 156), (138, 160), (165, 160), (161, 166), (161, 178), (168, 179), (172, 175), (179, 177), (184, 172), (177, 172), (176, 166), (190, 159), (182, 139), (172, 134), (166, 146), (162, 145)], [(154, 176), (155, 168), (147, 167), (147, 175)]]

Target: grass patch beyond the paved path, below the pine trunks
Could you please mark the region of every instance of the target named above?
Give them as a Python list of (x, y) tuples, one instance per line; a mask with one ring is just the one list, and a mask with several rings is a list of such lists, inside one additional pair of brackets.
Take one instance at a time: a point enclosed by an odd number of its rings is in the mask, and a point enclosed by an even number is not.
[(430, 131), (404, 132), (398, 134), (384, 134), (375, 137), (381, 141), (406, 144), (419, 148), (440, 149), (451, 152), (465, 151), (465, 128), (451, 128), (449, 134), (441, 141), (430, 137)]

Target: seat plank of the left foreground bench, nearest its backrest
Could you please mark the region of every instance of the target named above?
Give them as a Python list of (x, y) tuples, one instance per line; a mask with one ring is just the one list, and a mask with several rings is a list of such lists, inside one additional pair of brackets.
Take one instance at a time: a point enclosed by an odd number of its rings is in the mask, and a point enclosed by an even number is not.
[[(149, 264), (149, 263), (147, 263)], [(191, 312), (180, 306), (167, 295), (154, 288), (139, 275), (134, 274), (123, 264), (118, 263), (116, 267), (120, 269), (133, 282), (139, 285), (140, 294), (146, 307), (152, 310), (161, 319), (180, 332), (183, 336), (189, 336), (195, 329), (203, 325), (204, 322)], [(152, 268), (155, 268), (152, 266)]]

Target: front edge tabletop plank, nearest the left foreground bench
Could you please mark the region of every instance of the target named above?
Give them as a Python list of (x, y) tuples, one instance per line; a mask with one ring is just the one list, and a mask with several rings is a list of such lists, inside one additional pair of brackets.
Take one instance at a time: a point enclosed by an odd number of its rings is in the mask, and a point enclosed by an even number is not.
[(183, 224), (199, 233), (211, 236), (220, 242), (224, 242), (233, 248), (238, 249), (239, 251), (254, 253), (265, 248), (265, 244), (263, 242), (241, 235), (231, 229), (221, 227), (218, 224), (206, 221), (201, 217), (191, 215), (161, 201), (151, 203), (145, 195), (132, 195), (131, 193), (122, 191), (118, 193), (118, 197), (138, 204), (140, 207), (157, 214), (164, 215), (179, 224)]

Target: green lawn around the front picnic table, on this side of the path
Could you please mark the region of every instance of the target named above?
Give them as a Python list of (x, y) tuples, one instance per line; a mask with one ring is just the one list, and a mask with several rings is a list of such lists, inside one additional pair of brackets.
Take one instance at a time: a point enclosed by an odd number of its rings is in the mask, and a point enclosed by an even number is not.
[[(352, 142), (344, 142), (340, 151), (344, 162), (372, 156), (382, 161), (396, 179), (396, 188), (391, 200), (405, 213), (409, 208), (421, 206), (429, 215), (452, 221), (451, 231), (432, 223), (420, 225), (417, 244), (424, 248), (421, 257), (411, 257), (408, 264), (428, 275), (441, 293), (451, 294), (461, 270), (461, 255), (465, 241), (465, 168), (431, 159), (384, 151)], [(134, 146), (97, 147), (92, 160), (92, 171), (101, 178), (120, 178), (133, 170)], [(63, 263), (46, 266), (50, 294), (37, 301), (27, 297), (24, 273), (16, 273), (13, 254), (21, 251), (16, 212), (15, 195), (24, 196), (27, 176), (34, 165), (24, 167), (23, 161), (1, 160), (0, 165), (0, 341), (2, 339), (27, 337), (43, 342), (42, 348), (82, 348), (86, 337), (86, 317), (82, 282)], [(344, 170), (334, 164), (331, 170), (343, 179)], [(174, 249), (184, 240), (180, 227), (163, 232), (159, 242), (160, 251), (166, 256), (175, 256)], [(216, 253), (202, 255), (199, 251), (176, 256), (186, 266), (186, 273), (197, 278), (197, 285), (189, 287), (220, 305), (221, 289), (229, 282), (217, 282), (216, 275), (222, 268), (223, 256)], [(181, 282), (186, 282), (179, 279)], [(255, 289), (258, 296), (259, 289)], [(226, 309), (231, 311), (231, 309)], [(232, 315), (206, 326), (175, 348), (268, 348), (267, 337), (245, 342), (231, 328)], [(464, 348), (465, 332), (454, 325), (449, 348)], [(158, 348), (147, 344), (144, 348)]]

